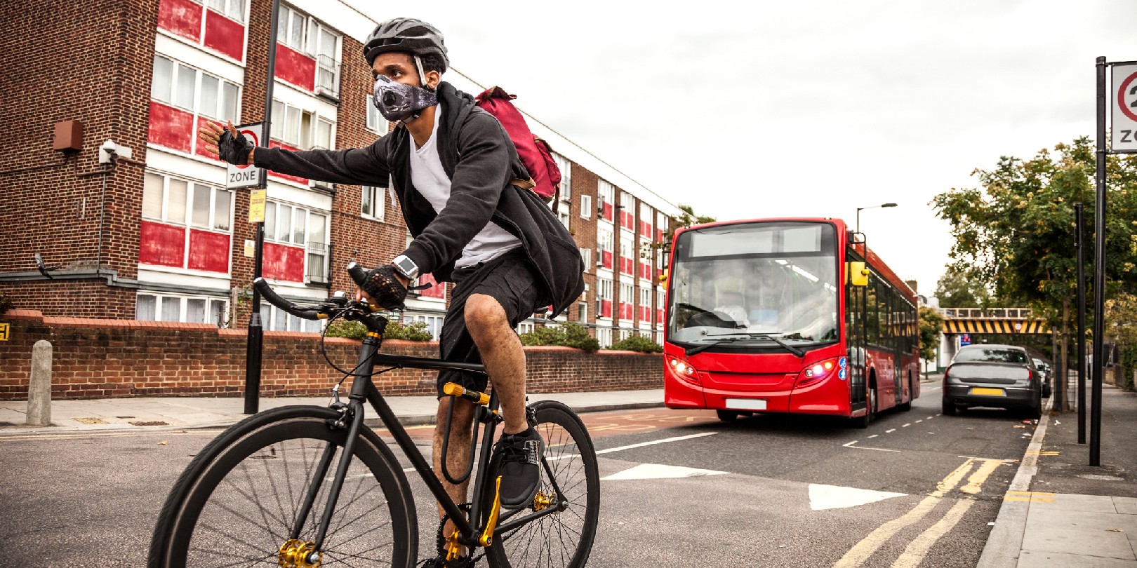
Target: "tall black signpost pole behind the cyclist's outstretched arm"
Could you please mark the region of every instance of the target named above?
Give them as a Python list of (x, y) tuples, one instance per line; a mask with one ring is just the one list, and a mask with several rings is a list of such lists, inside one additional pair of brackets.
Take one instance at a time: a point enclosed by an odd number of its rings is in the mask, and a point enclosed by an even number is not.
[[(273, 119), (273, 84), (276, 82), (276, 31), (280, 25), (280, 0), (273, 0), (272, 24), (268, 28), (268, 72), (265, 78), (265, 120), (260, 135), (260, 145), (268, 148), (272, 137)], [(255, 152), (254, 152), (255, 153)], [(268, 186), (268, 172), (260, 176), (259, 189)], [(257, 223), (257, 241), (254, 250), (252, 278), (260, 277), (262, 260), (265, 249), (265, 222)], [(249, 343), (246, 348), (244, 365), (244, 414), (257, 412), (260, 402), (260, 348), (265, 339), (264, 323), (260, 319), (260, 293), (252, 289), (252, 314), (249, 316)]]

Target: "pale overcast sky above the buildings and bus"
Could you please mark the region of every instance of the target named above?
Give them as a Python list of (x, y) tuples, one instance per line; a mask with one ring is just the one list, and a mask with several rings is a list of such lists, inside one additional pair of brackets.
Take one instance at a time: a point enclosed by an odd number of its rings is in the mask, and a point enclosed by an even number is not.
[(932, 197), (1092, 136), (1094, 59), (1137, 59), (1137, 0), (405, 8), (375, 16), (435, 24), (455, 69), (672, 203), (850, 224), (898, 203), (861, 228), (923, 293), (951, 249)]

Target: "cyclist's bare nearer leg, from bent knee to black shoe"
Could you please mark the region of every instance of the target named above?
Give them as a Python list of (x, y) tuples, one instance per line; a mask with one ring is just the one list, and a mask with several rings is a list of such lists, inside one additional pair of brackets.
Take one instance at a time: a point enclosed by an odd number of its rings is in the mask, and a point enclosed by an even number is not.
[(482, 364), (501, 402), (503, 432), (516, 434), (529, 428), (525, 420), (525, 351), (506, 317), (505, 308), (487, 294), (466, 299), (466, 331), (474, 339)]

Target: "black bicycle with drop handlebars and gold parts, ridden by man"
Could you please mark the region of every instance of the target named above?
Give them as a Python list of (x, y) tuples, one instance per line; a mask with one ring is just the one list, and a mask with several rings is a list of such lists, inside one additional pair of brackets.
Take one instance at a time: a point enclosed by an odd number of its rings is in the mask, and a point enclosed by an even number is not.
[[(363, 277), (355, 262), (348, 273), (356, 282)], [(532, 502), (501, 509), (498, 463), (492, 458), (495, 431), (503, 421), (497, 395), (448, 384), (447, 395), (478, 404), (470, 467), (458, 476), (443, 467), (448, 481), (460, 483), (473, 473), (475, 462), (478, 466), (471, 502), (455, 503), (372, 377), (397, 368), (482, 374), (485, 369), (474, 364), (380, 353), (387, 318), (343, 292), (318, 306), (299, 306), (277, 295), (263, 278), (254, 285), (266, 301), (293, 316), (343, 318), (366, 326), (358, 364), (345, 371), (345, 379), (354, 377), (350, 394), (341, 402), (337, 384), (333, 402), (326, 408), (266, 410), (214, 438), (185, 468), (166, 499), (148, 566), (409, 568), (418, 557), (418, 521), (405, 475), (410, 470), (418, 473), (446, 511), (435, 537), (438, 556), (432, 557), (445, 559), (446, 566), (474, 566), (483, 556), (495, 568), (584, 566), (596, 536), (600, 479), (592, 441), (575, 412), (555, 401), (528, 407), (529, 421), (545, 443), (541, 484)], [(381, 370), (375, 371), (376, 366)], [(388, 444), (364, 425), (365, 401), (371, 402), (413, 468), (404, 470)], [(456, 529), (443, 534), (448, 519)]]

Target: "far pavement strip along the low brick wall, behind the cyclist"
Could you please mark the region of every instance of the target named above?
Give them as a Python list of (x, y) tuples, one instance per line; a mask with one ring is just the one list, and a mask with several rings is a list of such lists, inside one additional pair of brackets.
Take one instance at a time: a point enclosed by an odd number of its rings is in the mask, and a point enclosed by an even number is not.
[[(342, 396), (347, 400), (347, 395)], [(404, 426), (434, 424), (438, 400), (434, 396), (387, 396), (395, 416)], [(663, 406), (663, 389), (645, 391), (603, 391), (582, 393), (530, 393), (530, 402), (557, 400), (576, 412), (657, 408)], [(262, 398), (259, 410), (289, 404), (326, 407), (331, 396)], [(381, 426), (367, 407), (368, 426)], [(26, 401), (0, 401), (0, 440), (5, 436), (93, 432), (157, 432), (190, 428), (221, 428), (247, 418), (244, 399), (211, 396), (155, 396), (133, 399), (53, 400), (51, 426), (28, 426)]]

